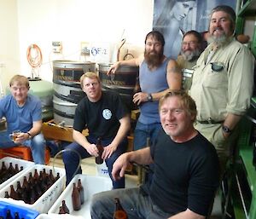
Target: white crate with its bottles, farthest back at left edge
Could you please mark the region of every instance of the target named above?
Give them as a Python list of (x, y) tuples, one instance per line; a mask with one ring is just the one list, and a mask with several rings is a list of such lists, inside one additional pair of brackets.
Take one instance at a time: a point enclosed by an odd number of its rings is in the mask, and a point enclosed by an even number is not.
[[(4, 166), (3, 166), (4, 165)], [(29, 171), (35, 163), (20, 158), (5, 157), (0, 159), (0, 189), (13, 182), (16, 177)], [(16, 170), (15, 170), (16, 169)]]

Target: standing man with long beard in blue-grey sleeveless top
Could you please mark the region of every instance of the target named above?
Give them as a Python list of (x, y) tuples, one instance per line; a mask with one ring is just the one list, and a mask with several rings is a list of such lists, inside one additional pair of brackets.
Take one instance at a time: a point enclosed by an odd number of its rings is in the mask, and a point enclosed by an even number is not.
[(134, 149), (146, 147), (148, 138), (151, 145), (161, 124), (158, 110), (160, 97), (169, 89), (181, 89), (182, 75), (177, 62), (164, 55), (165, 39), (160, 32), (149, 32), (145, 38), (144, 57), (118, 61), (110, 67), (115, 73), (119, 66), (139, 66), (140, 92), (133, 95), (133, 102), (140, 108), (140, 116), (134, 130)]

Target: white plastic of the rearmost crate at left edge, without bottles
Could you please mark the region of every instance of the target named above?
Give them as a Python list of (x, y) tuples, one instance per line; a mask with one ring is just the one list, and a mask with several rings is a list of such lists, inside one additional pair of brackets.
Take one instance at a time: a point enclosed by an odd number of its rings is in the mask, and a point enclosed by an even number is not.
[(8, 180), (6, 180), (5, 182), (0, 184), (0, 190), (5, 187), (6, 185), (10, 184), (11, 182), (15, 181), (15, 178), (19, 177), (20, 174), (24, 174), (25, 172), (29, 171), (30, 169), (32, 169), (32, 166), (35, 165), (34, 162), (32, 161), (27, 161), (24, 159), (20, 159), (20, 158), (11, 158), (11, 157), (4, 157), (0, 159), (0, 170), (2, 169), (2, 162), (4, 161), (6, 168), (9, 168), (9, 163), (12, 162), (13, 166), (15, 168), (15, 164), (19, 165), (19, 169), (20, 166), (23, 166), (23, 170), (16, 173), (14, 176), (10, 177)]

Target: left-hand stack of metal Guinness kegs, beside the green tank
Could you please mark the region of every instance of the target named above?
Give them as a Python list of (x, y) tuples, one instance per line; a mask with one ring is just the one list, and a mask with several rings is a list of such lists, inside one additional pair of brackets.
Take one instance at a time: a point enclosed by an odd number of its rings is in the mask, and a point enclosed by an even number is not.
[(84, 97), (80, 78), (85, 72), (96, 72), (94, 62), (53, 61), (54, 120), (73, 126), (74, 111)]

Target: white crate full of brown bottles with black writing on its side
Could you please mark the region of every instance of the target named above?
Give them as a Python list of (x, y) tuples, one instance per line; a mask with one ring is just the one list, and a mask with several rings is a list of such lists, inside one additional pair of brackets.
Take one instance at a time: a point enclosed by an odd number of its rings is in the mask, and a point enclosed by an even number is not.
[(65, 182), (65, 169), (35, 164), (0, 190), (0, 200), (47, 213), (64, 190)]

